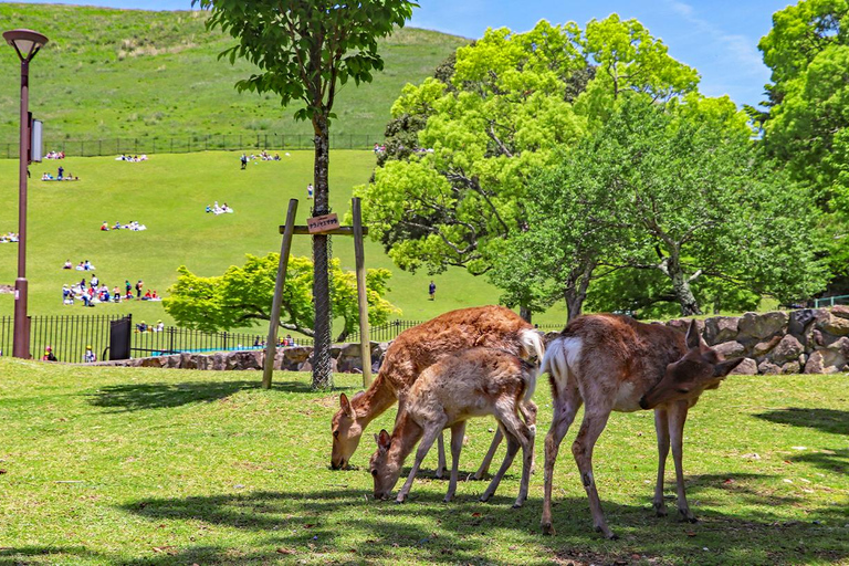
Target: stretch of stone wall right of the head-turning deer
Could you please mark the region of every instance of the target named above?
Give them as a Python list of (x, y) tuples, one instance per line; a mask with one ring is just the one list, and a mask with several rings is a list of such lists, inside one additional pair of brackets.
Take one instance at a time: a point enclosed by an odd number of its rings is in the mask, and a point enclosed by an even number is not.
[[(689, 319), (667, 323), (685, 331)], [(803, 308), (698, 321), (709, 346), (744, 356), (735, 374), (835, 374), (849, 370), (849, 306)]]

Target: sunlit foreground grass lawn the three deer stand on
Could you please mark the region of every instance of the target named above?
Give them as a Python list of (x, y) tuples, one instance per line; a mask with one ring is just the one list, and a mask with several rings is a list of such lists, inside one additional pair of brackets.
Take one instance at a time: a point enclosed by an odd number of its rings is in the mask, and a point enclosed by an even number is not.
[[(409, 503), (371, 501), (370, 432), (395, 410), (364, 436), (358, 468), (331, 471), (337, 394), (310, 391), (304, 374), (276, 374), (270, 391), (250, 371), (0, 359), (0, 564), (849, 562), (846, 375), (741, 376), (705, 394), (685, 432), (694, 525), (652, 516), (651, 415), (615, 413), (595, 464), (616, 542), (591, 530), (575, 430), (555, 474), (557, 535), (543, 537), (541, 473), (511, 509), (518, 468), (489, 504), (473, 481), (443, 504), (430, 454)], [(349, 394), (358, 379), (336, 376)], [(551, 403), (537, 391), (541, 465)], [(463, 475), (492, 427), (470, 423)]]

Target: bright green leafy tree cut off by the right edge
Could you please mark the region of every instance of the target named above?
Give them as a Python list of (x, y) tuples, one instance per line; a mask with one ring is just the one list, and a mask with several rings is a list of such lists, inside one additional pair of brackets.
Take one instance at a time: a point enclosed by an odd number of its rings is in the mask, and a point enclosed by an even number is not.
[(826, 212), (821, 238), (849, 290), (849, 3), (789, 6), (758, 48), (773, 71), (764, 145)]

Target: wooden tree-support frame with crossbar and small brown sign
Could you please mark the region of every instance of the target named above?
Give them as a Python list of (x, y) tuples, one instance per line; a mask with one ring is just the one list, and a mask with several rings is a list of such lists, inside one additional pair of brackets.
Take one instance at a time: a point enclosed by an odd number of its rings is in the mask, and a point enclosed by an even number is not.
[(297, 212), (297, 199), (289, 201), (286, 223), (280, 227), (283, 234), (283, 243), (280, 247), (280, 263), (277, 264), (277, 280), (274, 284), (274, 300), (271, 304), (271, 321), (269, 322), (269, 340), (265, 344), (265, 364), (262, 374), (262, 387), (271, 388), (271, 376), (274, 370), (274, 357), (277, 347), (277, 331), (280, 328), (280, 310), (283, 304), (283, 286), (286, 282), (286, 268), (292, 250), (292, 235), (323, 233), (329, 235), (353, 235), (354, 255), (357, 270), (357, 303), (359, 306), (359, 354), (363, 361), (363, 387), (371, 385), (371, 342), (368, 338), (368, 297), (366, 294), (366, 266), (363, 235), (368, 234), (368, 228), (363, 226), (363, 217), (359, 198), (352, 200), (353, 227), (339, 226), (336, 214), (324, 214), (310, 218), (306, 226), (295, 226), (295, 212)]

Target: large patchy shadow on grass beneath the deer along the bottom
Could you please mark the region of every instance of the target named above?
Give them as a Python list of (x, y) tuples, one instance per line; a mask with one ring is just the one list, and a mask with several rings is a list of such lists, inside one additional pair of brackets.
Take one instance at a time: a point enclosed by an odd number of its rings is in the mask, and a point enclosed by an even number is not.
[[(735, 560), (782, 564), (815, 557), (839, 562), (849, 557), (849, 544), (839, 542), (841, 537), (832, 526), (846, 521), (841, 510), (820, 507), (800, 521), (783, 522), (771, 509), (793, 505), (795, 500), (772, 495), (762, 485), (768, 478), (737, 476), (732, 484), (724, 483), (725, 478), (720, 475), (691, 478), (689, 483), (694, 495), (691, 501), (701, 500), (694, 509), (702, 520), (696, 525), (682, 525), (672, 516), (654, 517), (650, 493), (643, 505), (602, 501), (609, 524), (622, 537), (618, 542), (604, 541), (593, 532), (585, 497), (557, 499), (554, 524), (558, 534), (544, 537), (538, 530), (541, 502), (530, 500), (523, 509), (513, 510), (511, 504), (515, 494), (509, 490), (485, 504), (478, 503), (476, 495), (471, 494), (443, 504), (442, 494), (432, 490), (413, 492), (405, 505), (375, 502), (363, 490), (317, 490), (147, 500), (127, 504), (123, 510), (155, 523), (200, 522), (251, 532), (256, 536), (245, 554), (238, 554), (239, 551), (233, 548), (198, 545), (175, 549), (176, 556), (139, 557), (130, 564), (245, 564), (297, 559), (342, 564), (417, 560), (506, 565), (517, 560), (509, 548), (520, 547), (522, 552), (546, 557), (532, 560), (541, 564), (551, 564), (555, 555), (564, 563), (587, 555), (591, 562), (604, 564), (629, 564), (635, 562), (633, 554), (657, 564)], [(737, 514), (712, 511), (712, 488), (729, 489), (735, 496), (756, 499), (757, 505), (747, 505)], [(483, 489), (481, 485), (478, 491)], [(727, 505), (727, 499), (723, 502)], [(674, 503), (671, 507), (674, 512)], [(819, 526), (810, 520), (811, 516), (831, 526)], [(806, 543), (799, 547), (797, 542), (803, 539)], [(709, 546), (711, 556), (705, 562), (702, 547)], [(527, 558), (525, 554), (521, 562), (527, 562)]]

